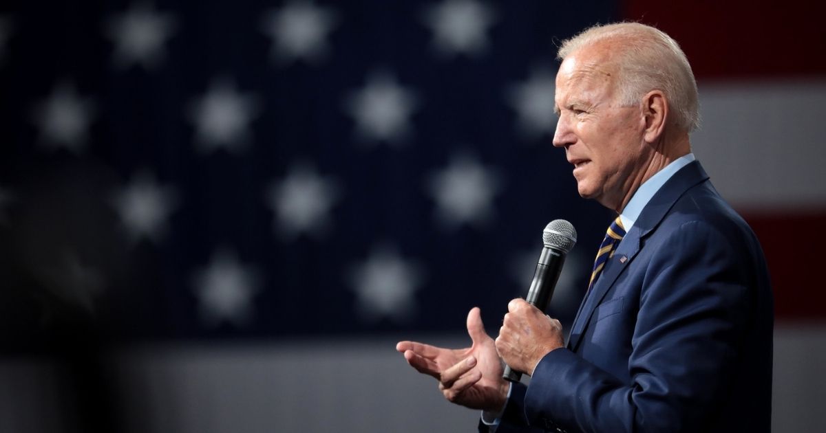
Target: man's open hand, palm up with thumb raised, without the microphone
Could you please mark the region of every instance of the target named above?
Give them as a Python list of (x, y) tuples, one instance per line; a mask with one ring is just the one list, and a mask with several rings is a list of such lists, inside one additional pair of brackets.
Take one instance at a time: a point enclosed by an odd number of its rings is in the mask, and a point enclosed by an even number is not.
[(472, 346), (444, 349), (414, 341), (401, 341), (396, 351), (420, 373), (439, 380), (439, 391), (450, 402), (472, 409), (498, 412), (505, 406), (508, 383), (493, 339), (485, 332), (479, 308), (468, 313)]

